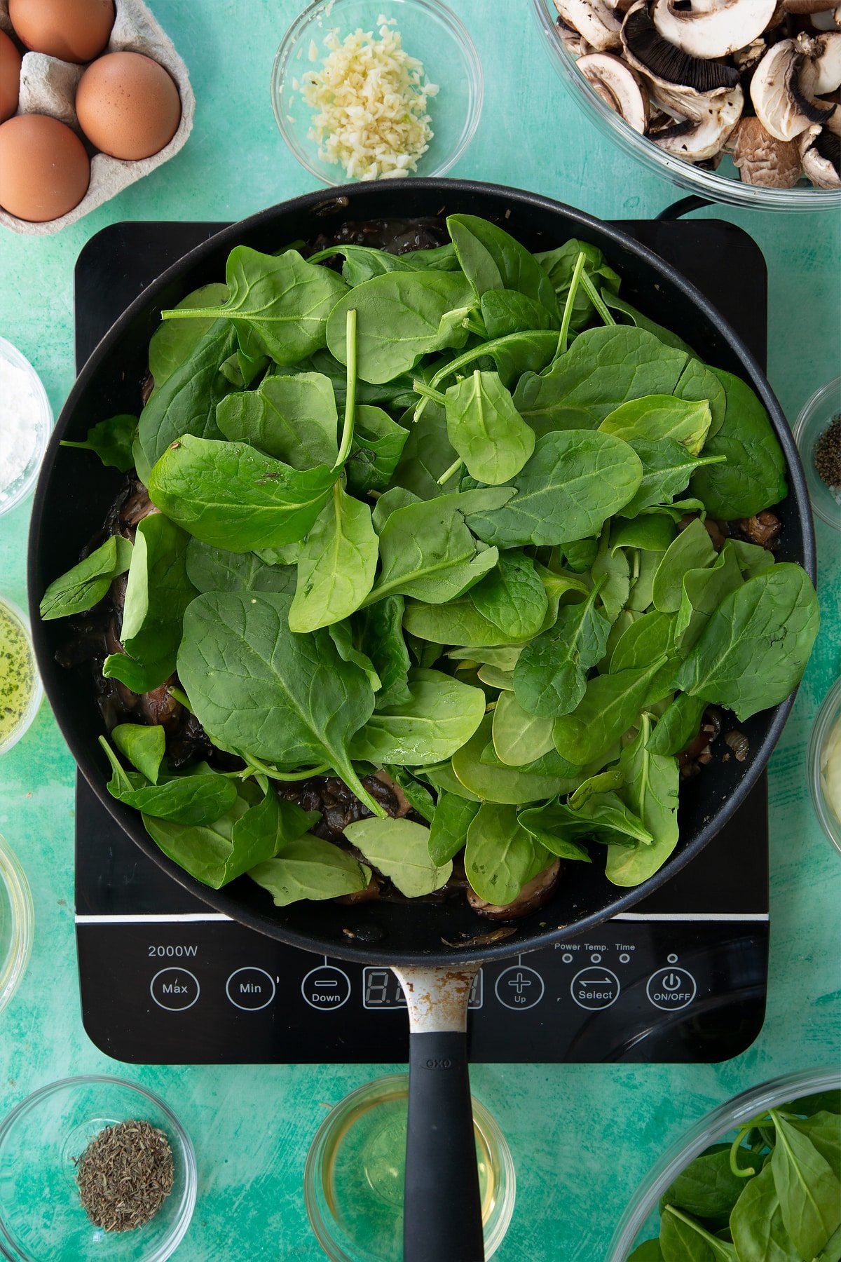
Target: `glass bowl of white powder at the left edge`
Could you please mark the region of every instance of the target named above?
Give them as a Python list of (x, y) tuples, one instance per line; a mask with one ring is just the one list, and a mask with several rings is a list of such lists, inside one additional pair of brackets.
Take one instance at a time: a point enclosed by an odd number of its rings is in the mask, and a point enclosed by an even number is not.
[(29, 360), (0, 337), (0, 515), (33, 488), (53, 409)]

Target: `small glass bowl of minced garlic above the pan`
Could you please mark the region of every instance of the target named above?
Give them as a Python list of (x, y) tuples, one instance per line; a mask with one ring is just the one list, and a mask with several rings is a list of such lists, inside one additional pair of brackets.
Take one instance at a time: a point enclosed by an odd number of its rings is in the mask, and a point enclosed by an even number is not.
[(315, 0), (271, 72), (280, 133), (325, 184), (443, 175), (482, 115), (479, 56), (439, 0)]

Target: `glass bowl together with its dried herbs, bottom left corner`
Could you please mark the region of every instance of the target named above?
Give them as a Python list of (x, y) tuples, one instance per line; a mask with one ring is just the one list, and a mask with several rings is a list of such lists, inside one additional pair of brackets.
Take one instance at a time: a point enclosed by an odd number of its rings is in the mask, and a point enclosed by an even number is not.
[(164, 1262), (195, 1205), (195, 1155), (161, 1099), (66, 1078), (0, 1124), (0, 1253), (16, 1262)]

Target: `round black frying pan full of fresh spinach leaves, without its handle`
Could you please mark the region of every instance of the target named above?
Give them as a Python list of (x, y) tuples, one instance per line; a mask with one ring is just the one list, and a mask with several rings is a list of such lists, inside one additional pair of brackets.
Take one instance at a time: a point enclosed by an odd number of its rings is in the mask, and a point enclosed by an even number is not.
[[(453, 202), (431, 249), (359, 227)], [(550, 897), (598, 923), (735, 809), (808, 659), (782, 414), (700, 295), (580, 212), (356, 186), (330, 237), (323, 199), (291, 204), (163, 276), (68, 401), (30, 554), (59, 722), (134, 839), (266, 933), (467, 958), (475, 911), (517, 904), (519, 943)], [(777, 554), (745, 534), (774, 506)], [(62, 669), (97, 636), (101, 713)], [(710, 705), (745, 761), (709, 753)], [(348, 945), (332, 900), (371, 893)]]

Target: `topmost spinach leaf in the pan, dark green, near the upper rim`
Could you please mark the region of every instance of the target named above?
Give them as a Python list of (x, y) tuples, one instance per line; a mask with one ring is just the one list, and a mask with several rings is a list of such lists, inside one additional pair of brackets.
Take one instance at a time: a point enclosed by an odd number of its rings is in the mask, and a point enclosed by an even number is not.
[(477, 298), (489, 289), (516, 289), (556, 309), (555, 286), (546, 271), (508, 232), (475, 215), (450, 215), (446, 228)]

